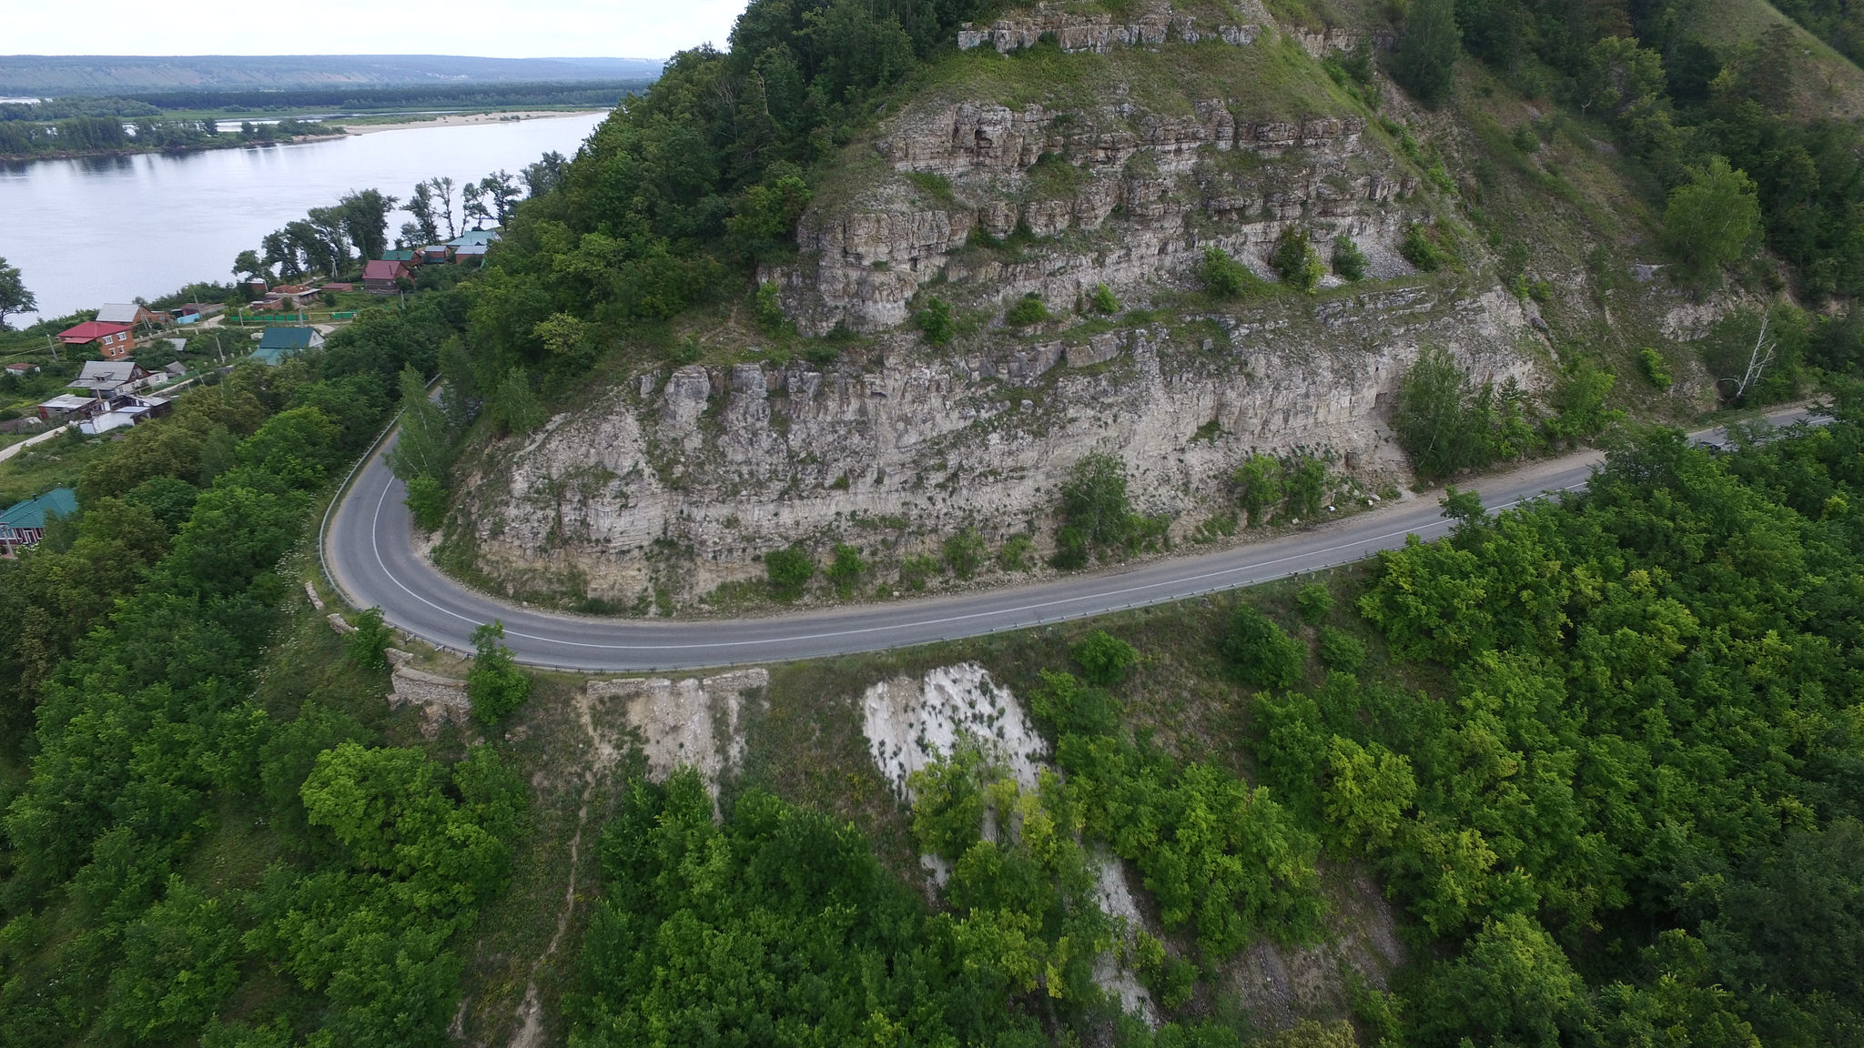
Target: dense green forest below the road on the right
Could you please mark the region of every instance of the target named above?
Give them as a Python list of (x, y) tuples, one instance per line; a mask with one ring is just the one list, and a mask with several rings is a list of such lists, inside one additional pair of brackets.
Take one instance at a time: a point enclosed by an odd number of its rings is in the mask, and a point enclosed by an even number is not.
[[(1858, 392), (1838, 416), (1722, 457), (1644, 434), (1584, 496), (1381, 556), (1351, 604), (1307, 586), (1292, 621), (1178, 640), (1247, 686), (1258, 787), (1137, 731), (1146, 653), (1089, 634), (1027, 694), (1036, 791), (964, 748), (913, 779), (934, 906), (761, 789), (718, 824), (697, 776), (636, 785), (572, 1042), (1240, 1044), (1206, 981), (1323, 934), (1325, 865), (1376, 871), (1413, 945), (1353, 990), (1361, 1042), (1864, 1044)], [(1100, 912), (1092, 850), (1176, 947)], [(1178, 1022), (1122, 1016), (1102, 951)]]

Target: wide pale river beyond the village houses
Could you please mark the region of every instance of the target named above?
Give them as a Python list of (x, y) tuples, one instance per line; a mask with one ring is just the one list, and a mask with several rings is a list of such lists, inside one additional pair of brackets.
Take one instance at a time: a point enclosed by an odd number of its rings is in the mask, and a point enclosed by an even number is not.
[[(378, 131), (203, 153), (0, 164), (0, 257), (45, 317), (233, 280), (233, 255), (352, 188), (406, 198), (416, 183), (477, 181), (555, 149), (576, 153), (604, 114)], [(455, 203), (455, 209), (459, 203)], [(390, 216), (388, 235), (408, 216)], [(30, 324), (32, 315), (9, 323)]]

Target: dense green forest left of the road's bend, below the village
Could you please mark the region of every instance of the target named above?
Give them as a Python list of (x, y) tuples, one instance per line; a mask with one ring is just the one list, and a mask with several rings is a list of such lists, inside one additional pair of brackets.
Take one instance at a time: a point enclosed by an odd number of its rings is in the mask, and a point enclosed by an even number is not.
[(425, 295), (235, 367), (93, 459), (82, 515), (0, 561), (0, 1042), (444, 1037), (520, 783), (490, 748), (386, 746), (378, 647), (261, 671), (291, 655), (283, 558), (459, 319)]

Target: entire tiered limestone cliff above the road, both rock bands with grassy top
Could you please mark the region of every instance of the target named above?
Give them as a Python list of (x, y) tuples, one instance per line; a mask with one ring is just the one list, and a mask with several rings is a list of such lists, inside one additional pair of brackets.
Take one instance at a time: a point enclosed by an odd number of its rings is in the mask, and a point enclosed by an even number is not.
[[(1478, 382), (1545, 388), (1530, 302), (1476, 267), (1404, 261), (1405, 228), (1446, 205), (1316, 60), (1355, 39), (1253, 4), (1126, 22), (1044, 6), (964, 30), (820, 175), (800, 254), (761, 274), (805, 336), (865, 332), (865, 360), (647, 371), (554, 418), (468, 477), (479, 569), (514, 595), (665, 612), (798, 541), (856, 545), (880, 578), (962, 528), (1031, 533), (1040, 556), (1062, 477), (1096, 451), (1182, 541), (1251, 451), (1323, 455), (1340, 494), (1402, 474), (1387, 403), (1424, 345)], [(1368, 278), (1197, 293), (1212, 246), (1273, 280), (1286, 229), (1323, 257), (1353, 239)], [(1169, 310), (1098, 317), (1100, 285)], [(910, 323), (932, 295), (960, 317), (945, 347)], [(1064, 319), (1005, 324), (1029, 295)]]

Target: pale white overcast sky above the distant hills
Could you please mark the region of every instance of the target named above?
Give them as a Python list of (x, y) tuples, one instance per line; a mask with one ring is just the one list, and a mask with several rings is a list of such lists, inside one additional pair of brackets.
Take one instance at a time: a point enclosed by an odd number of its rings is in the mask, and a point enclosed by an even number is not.
[(665, 58), (725, 47), (746, 0), (147, 0), (7, 4), (9, 54)]

